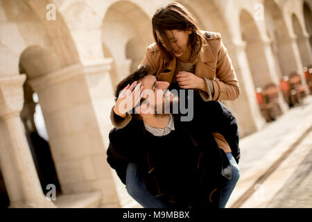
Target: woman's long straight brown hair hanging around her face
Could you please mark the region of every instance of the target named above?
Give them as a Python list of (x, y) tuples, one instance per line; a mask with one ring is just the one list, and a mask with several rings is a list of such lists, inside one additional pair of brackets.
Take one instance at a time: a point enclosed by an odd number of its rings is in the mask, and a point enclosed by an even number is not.
[[(173, 55), (167, 50), (171, 49), (168, 37), (166, 37), (165, 31), (171, 31), (177, 29), (180, 31), (191, 31), (189, 35), (189, 46), (191, 46), (191, 56), (189, 62), (195, 63), (200, 50), (202, 49), (202, 40), (205, 39), (204, 35), (200, 33), (200, 28), (193, 15), (182, 6), (180, 3), (168, 3), (165, 6), (158, 8), (152, 19), (153, 35), (158, 49), (164, 55), (166, 62), (173, 60)], [(157, 37), (157, 33), (164, 41), (167, 49), (164, 48), (162, 43)]]

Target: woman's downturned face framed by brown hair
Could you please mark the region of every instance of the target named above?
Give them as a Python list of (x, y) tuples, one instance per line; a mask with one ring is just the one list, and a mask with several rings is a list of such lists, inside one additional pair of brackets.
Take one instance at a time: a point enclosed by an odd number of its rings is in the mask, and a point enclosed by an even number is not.
[(189, 35), (191, 34), (191, 31), (181, 31), (173, 29), (166, 30), (165, 33), (170, 46), (166, 46), (162, 37), (159, 35), (158, 32), (156, 32), (157, 37), (161, 42), (161, 44), (164, 46), (165, 49), (171, 52), (173, 56), (180, 58), (182, 56), (186, 56), (186, 54), (189, 53), (188, 44), (189, 44)]

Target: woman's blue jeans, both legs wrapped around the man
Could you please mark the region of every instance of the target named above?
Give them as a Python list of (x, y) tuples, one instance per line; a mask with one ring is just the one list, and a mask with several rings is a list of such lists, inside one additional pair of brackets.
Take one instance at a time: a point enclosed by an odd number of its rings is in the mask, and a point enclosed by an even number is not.
[[(220, 208), (225, 208), (229, 196), (231, 196), (237, 181), (239, 180), (239, 167), (232, 155), (232, 153), (226, 153), (229, 163), (232, 165), (232, 179), (226, 180), (223, 186)], [(154, 194), (146, 189), (143, 178), (139, 175), (137, 165), (130, 162), (127, 167), (127, 174), (125, 179), (126, 189), (128, 194), (134, 198), (144, 208), (168, 208), (168, 204), (160, 197), (155, 197)]]

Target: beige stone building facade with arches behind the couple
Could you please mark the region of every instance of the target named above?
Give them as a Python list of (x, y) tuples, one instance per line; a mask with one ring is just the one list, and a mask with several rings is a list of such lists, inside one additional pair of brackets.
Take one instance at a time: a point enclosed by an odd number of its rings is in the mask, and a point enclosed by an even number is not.
[[(106, 162), (116, 83), (153, 42), (167, 0), (0, 0), (0, 186), (10, 207), (125, 207)], [(312, 0), (180, 0), (200, 28), (221, 33), (241, 85), (225, 101), (241, 136), (266, 126), (255, 91), (312, 64)], [(36, 103), (61, 191), (44, 195), (26, 133)], [(279, 105), (287, 112), (281, 94)], [(42, 172), (44, 173), (44, 172)]]

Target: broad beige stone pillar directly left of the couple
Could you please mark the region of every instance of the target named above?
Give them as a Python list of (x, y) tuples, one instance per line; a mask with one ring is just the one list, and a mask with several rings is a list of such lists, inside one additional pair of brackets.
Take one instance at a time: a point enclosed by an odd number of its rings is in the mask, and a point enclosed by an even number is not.
[(106, 161), (114, 104), (111, 62), (71, 65), (29, 83), (42, 108), (62, 194), (102, 191), (101, 206), (120, 207)]

